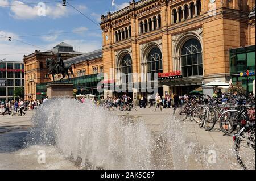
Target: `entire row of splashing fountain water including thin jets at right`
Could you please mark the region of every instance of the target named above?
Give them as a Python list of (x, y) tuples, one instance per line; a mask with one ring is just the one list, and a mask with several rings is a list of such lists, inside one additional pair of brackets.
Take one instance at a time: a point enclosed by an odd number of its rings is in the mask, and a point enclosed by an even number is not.
[(232, 151), (189, 139), (191, 128), (171, 115), (154, 134), (140, 118), (117, 116), (90, 102), (55, 99), (40, 107), (32, 122), (27, 146), (57, 148), (85, 169), (216, 169), (209, 164), (209, 150), (217, 151), (219, 169), (241, 169), (230, 160)]

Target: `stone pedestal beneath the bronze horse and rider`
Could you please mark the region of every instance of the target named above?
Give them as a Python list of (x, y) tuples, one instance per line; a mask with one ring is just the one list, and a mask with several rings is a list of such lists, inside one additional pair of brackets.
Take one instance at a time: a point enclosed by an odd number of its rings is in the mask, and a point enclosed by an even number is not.
[(49, 83), (46, 85), (48, 98), (73, 98), (73, 83)]

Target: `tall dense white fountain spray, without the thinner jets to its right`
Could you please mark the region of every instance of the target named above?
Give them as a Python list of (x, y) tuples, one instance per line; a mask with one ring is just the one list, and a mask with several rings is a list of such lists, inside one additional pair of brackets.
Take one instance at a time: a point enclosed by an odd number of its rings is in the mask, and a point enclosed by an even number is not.
[(36, 144), (104, 169), (150, 169), (151, 134), (142, 121), (121, 120), (91, 103), (56, 99), (32, 118)]

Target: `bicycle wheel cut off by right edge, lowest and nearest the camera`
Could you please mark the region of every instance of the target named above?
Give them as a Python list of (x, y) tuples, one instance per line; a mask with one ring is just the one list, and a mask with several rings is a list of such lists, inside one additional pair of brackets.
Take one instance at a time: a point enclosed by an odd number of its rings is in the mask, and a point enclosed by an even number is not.
[(244, 170), (255, 170), (255, 127), (243, 129), (234, 140), (238, 163)]

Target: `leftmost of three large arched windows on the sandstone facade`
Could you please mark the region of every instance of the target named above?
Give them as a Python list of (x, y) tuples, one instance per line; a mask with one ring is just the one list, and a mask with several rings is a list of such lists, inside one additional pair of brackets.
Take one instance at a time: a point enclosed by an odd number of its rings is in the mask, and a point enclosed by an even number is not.
[(131, 61), (130, 54), (123, 56), (121, 61), (121, 81), (130, 83), (133, 82), (133, 62)]

